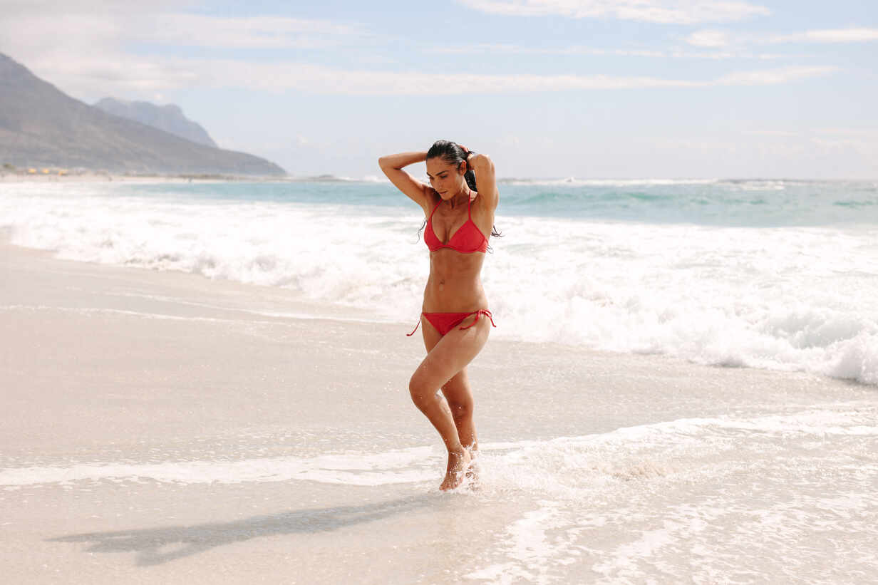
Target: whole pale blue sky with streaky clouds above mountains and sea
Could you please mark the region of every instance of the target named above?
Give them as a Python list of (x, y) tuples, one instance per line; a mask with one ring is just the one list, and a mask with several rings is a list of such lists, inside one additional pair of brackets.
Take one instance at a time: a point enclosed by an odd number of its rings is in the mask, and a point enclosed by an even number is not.
[[(499, 177), (878, 178), (878, 1), (0, 0), (72, 97), (173, 103), (293, 176), (438, 139)], [(413, 174), (424, 174), (423, 165)]]

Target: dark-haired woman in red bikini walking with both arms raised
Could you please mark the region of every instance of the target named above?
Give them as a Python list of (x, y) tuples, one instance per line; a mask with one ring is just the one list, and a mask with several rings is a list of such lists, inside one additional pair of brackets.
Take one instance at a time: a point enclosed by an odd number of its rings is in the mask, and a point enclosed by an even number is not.
[[(402, 170), (422, 161), (427, 162), (429, 185)], [(471, 473), (479, 448), (466, 365), (485, 346), (493, 325), (479, 274), (488, 246), (486, 234), (500, 235), (493, 231), (500, 192), (491, 159), (455, 142), (436, 141), (427, 152), (382, 156), (378, 164), (426, 217), (430, 276), (418, 324), (427, 357), (412, 374), (408, 391), (443, 438), (448, 468), (440, 489), (453, 489)]]

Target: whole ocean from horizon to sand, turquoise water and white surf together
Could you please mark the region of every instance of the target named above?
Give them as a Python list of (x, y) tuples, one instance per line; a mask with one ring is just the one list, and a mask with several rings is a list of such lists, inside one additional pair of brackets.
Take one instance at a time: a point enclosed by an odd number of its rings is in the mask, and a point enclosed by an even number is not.
[[(14, 244), (418, 320), (423, 213), (377, 177), (3, 189)], [(874, 181), (510, 179), (495, 227), (494, 337), (878, 384)]]

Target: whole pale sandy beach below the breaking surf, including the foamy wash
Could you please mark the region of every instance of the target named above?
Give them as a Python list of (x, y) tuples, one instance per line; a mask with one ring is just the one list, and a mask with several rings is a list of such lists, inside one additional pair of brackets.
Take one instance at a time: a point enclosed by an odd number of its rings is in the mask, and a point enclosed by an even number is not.
[(9, 582), (878, 567), (872, 386), (491, 340), (470, 366), (484, 485), (442, 494), (438, 437), (407, 395), (423, 357), (408, 315), (315, 319), (332, 309), (276, 287), (7, 244), (0, 283)]

